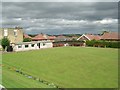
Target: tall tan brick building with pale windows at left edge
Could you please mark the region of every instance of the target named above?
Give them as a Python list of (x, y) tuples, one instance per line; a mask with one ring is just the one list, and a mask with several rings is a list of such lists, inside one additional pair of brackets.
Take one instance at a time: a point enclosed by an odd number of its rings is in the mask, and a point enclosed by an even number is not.
[(22, 28), (0, 28), (0, 40), (7, 37), (10, 43), (19, 43), (23, 41)]

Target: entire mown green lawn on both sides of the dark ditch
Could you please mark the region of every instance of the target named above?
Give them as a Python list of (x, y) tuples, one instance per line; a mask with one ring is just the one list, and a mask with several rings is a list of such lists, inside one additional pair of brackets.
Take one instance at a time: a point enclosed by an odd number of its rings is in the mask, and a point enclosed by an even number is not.
[(2, 63), (5, 87), (50, 87), (7, 67), (15, 67), (62, 88), (118, 87), (117, 49), (60, 47), (4, 53)]

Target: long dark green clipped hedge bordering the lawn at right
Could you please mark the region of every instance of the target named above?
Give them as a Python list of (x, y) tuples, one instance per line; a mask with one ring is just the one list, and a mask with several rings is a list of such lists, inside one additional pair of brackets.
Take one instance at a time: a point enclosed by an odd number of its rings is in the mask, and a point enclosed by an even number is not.
[(108, 48), (120, 48), (120, 41), (96, 41), (96, 40), (91, 40), (91, 41), (86, 41), (87, 46), (103, 46), (103, 47), (108, 47)]

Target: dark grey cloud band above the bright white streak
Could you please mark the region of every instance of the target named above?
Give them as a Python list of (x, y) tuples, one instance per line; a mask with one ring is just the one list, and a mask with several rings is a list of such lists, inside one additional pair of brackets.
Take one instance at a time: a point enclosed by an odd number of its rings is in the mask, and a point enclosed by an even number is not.
[[(106, 7), (109, 8), (106, 8)], [(4, 8), (5, 7), (5, 8)], [(101, 7), (101, 8), (100, 8)], [(3, 3), (7, 17), (102, 19), (117, 18), (117, 3)], [(107, 11), (107, 12), (106, 12)], [(109, 11), (109, 12), (108, 12)], [(8, 13), (11, 13), (9, 15)], [(114, 15), (114, 14), (116, 15)]]

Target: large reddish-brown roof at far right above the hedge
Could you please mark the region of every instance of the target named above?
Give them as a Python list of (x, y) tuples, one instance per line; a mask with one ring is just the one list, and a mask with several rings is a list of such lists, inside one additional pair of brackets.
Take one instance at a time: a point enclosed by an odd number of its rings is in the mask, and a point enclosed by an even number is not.
[(102, 35), (101, 39), (120, 39), (120, 33), (117, 32), (108, 32)]

